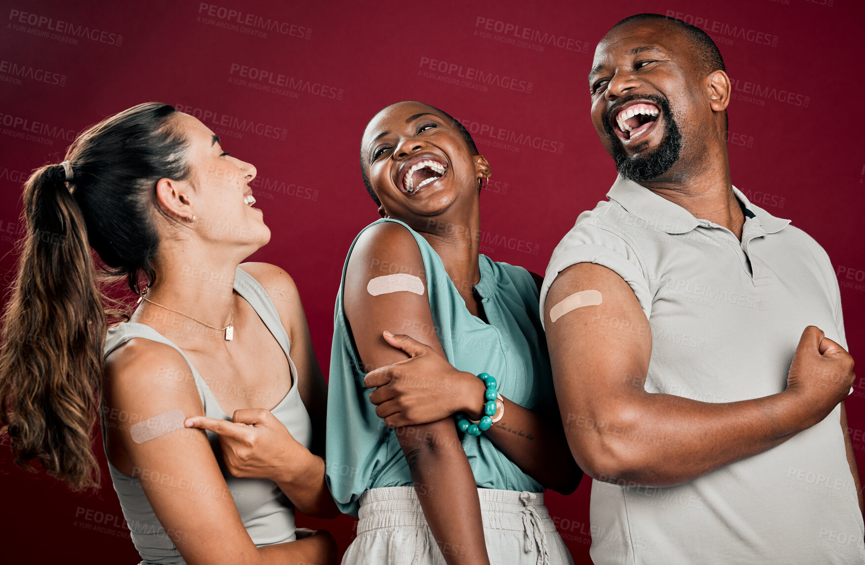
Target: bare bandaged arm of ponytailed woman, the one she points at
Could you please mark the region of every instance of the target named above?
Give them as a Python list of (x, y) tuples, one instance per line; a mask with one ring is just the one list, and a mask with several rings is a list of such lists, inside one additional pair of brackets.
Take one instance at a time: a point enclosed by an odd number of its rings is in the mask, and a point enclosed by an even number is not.
[[(336, 563), (336, 550), (328, 534), (298, 542), (257, 548), (240, 520), (234, 496), (228, 490), (207, 435), (201, 430), (160, 426), (151, 418), (171, 411), (203, 416), (195, 387), (167, 387), (166, 372), (187, 376), (189, 366), (176, 350), (162, 343), (131, 340), (108, 357), (106, 414), (110, 453), (122, 453), (132, 475), (189, 565), (200, 563), (265, 565), (269, 563)], [(171, 429), (158, 437), (133, 440), (131, 428), (112, 421), (112, 414), (125, 414), (128, 422), (144, 422), (150, 430)], [(121, 415), (121, 418), (123, 416)], [(152, 425), (151, 425), (152, 424)], [(152, 433), (151, 433), (152, 435)]]

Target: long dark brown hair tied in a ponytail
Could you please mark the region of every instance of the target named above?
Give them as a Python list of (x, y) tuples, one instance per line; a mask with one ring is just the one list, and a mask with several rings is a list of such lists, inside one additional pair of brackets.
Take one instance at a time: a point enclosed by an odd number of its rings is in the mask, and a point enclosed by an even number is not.
[[(24, 184), (18, 273), (0, 338), (0, 424), (16, 464), (74, 490), (99, 486), (93, 427), (102, 394), (106, 297), (99, 272), (132, 292), (156, 278), (156, 183), (189, 176), (173, 106), (151, 102), (80, 134), (67, 164)], [(68, 169), (68, 173), (67, 173)]]

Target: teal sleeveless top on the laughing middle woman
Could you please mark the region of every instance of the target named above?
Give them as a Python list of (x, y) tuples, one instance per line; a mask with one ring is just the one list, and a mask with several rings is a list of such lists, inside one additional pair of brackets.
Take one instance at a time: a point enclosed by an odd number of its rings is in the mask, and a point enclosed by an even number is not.
[[(554, 407), (552, 374), (547, 344), (538, 318), (538, 290), (528, 271), (480, 255), (480, 282), (475, 290), (483, 299), (489, 324), (465, 307), (456, 286), (445, 272), (439, 254), (412, 228), (394, 222), (414, 236), (426, 272), (432, 320), (447, 360), (457, 369), (495, 376), (499, 392), (525, 408)], [(360, 234), (358, 234), (360, 237)], [(357, 516), (363, 491), (388, 486), (410, 486), (406, 458), (394, 429), (375, 414), (363, 386), (360, 356), (343, 311), (346, 268), (357, 238), (343, 266), (336, 296), (333, 345), (327, 406), (327, 469), (325, 478), (336, 504)], [(399, 331), (395, 328), (394, 331)], [(481, 403), (482, 398), (477, 402)], [(454, 423), (456, 425), (456, 422)], [(486, 434), (462, 438), (477, 486), (505, 491), (544, 491), (543, 486), (501, 453)]]

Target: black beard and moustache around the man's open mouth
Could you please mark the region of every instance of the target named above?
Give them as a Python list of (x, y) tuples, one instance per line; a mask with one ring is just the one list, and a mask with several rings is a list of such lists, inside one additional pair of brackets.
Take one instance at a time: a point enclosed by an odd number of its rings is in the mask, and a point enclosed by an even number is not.
[[(644, 183), (660, 177), (676, 164), (676, 161), (679, 159), (679, 151), (682, 150), (682, 134), (679, 132), (679, 128), (676, 127), (676, 119), (673, 118), (673, 112), (670, 110), (667, 99), (653, 94), (650, 96), (634, 96), (630, 100), (638, 99), (650, 100), (663, 112), (663, 139), (656, 150), (628, 157), (625, 153), (625, 148), (622, 146), (621, 138), (616, 135), (616, 132), (612, 131), (612, 125), (610, 125), (612, 112), (607, 112), (606, 119), (604, 120), (604, 132), (610, 138), (612, 160), (616, 162), (618, 174), (635, 183)], [(630, 100), (625, 99), (616, 107), (620, 108)]]

